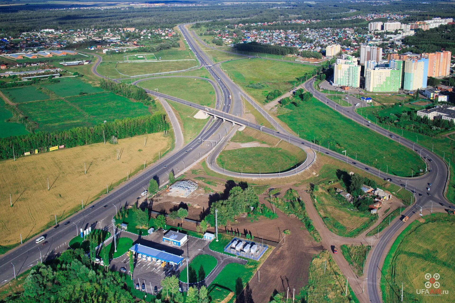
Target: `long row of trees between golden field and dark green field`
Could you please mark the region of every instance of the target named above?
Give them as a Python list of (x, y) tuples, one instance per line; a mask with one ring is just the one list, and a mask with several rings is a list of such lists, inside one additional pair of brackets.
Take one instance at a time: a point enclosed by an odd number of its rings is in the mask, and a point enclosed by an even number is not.
[[(165, 114), (157, 112), (148, 116), (118, 119), (93, 127), (75, 127), (57, 132), (37, 132), (21, 136), (0, 139), (0, 159), (13, 159), (25, 152), (35, 153), (35, 149), (45, 151), (56, 145), (65, 148), (86, 144), (101, 143), (111, 136), (117, 139), (129, 138), (141, 134), (151, 134), (168, 130)], [(14, 149), (14, 151), (13, 151)]]

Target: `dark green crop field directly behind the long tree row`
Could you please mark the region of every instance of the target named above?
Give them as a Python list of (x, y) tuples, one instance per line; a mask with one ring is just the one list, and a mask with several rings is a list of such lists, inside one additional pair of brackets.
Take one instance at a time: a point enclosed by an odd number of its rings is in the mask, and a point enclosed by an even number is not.
[(104, 120), (149, 114), (147, 106), (111, 92), (89, 94), (67, 99), (53, 99), (18, 104), (38, 130), (55, 131), (79, 126), (93, 126)]

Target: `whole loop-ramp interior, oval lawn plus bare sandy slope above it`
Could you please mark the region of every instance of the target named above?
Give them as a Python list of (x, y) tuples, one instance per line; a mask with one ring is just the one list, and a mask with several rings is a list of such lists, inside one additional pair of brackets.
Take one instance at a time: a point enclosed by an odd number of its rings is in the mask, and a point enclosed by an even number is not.
[(218, 155), (217, 164), (235, 172), (275, 173), (288, 170), (305, 159), (302, 149), (247, 128), (233, 136)]

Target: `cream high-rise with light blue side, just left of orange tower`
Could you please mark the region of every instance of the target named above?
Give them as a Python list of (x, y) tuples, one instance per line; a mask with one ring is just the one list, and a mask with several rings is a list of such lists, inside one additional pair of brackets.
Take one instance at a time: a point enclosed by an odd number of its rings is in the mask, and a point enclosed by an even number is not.
[(408, 59), (404, 61), (403, 89), (416, 90), (426, 88), (428, 59)]

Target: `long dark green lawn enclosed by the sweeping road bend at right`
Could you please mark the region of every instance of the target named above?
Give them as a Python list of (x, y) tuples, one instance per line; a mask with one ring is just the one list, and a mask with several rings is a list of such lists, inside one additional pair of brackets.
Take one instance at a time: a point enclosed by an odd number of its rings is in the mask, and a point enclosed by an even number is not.
[[(292, 109), (292, 106), (289, 107)], [(357, 161), (373, 166), (389, 174), (411, 176), (425, 171), (425, 163), (419, 155), (399, 143), (359, 125), (325, 104), (312, 98), (302, 106), (278, 116), (295, 133), (309, 141), (329, 147)]]

